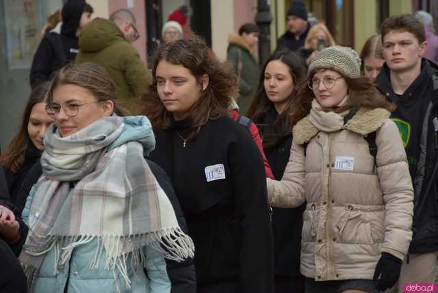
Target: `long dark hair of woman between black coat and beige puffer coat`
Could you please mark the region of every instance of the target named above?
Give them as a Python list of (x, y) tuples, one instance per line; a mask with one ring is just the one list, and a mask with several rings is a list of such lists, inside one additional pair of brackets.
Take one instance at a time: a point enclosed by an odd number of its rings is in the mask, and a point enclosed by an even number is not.
[[(268, 99), (266, 90), (264, 87), (265, 80), (265, 70), (268, 63), (274, 60), (280, 60), (283, 64), (289, 67), (289, 73), (292, 76), (292, 82), (294, 83), (294, 90), (290, 94), (287, 105), (283, 113), (280, 114), (279, 118), (276, 119), (274, 125), (274, 133), (270, 133), (269, 136), (263, 136), (263, 149), (269, 149), (275, 146), (279, 141), (283, 140), (285, 137), (290, 136), (292, 133), (291, 110), (292, 101), (296, 96), (298, 86), (306, 78), (306, 66), (305, 62), (298, 53), (291, 51), (279, 51), (271, 55), (271, 57), (263, 65), (263, 69), (259, 77), (259, 86), (257, 87), (257, 92), (248, 110), (248, 116), (256, 123), (259, 130), (262, 132), (261, 120), (270, 108), (274, 107), (274, 103)], [(263, 133), (262, 133), (263, 135)]]

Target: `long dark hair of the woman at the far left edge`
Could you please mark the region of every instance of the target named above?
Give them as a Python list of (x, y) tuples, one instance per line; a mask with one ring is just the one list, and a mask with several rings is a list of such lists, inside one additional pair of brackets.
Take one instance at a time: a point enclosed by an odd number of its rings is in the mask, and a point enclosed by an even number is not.
[(1, 164), (10, 169), (12, 173), (17, 173), (25, 163), (26, 149), (32, 144), (29, 133), (27, 132), (30, 114), (34, 105), (44, 102), (44, 99), (47, 97), (49, 86), (50, 82), (45, 81), (32, 90), (29, 99), (27, 99), (18, 132), (15, 134), (14, 138), (12, 138), (6, 152), (1, 155)]

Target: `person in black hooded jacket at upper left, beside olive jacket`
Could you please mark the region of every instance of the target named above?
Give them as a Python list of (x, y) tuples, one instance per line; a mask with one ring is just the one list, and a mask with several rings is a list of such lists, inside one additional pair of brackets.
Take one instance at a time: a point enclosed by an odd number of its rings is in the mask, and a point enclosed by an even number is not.
[(30, 68), (30, 85), (35, 88), (42, 81), (70, 61), (75, 61), (79, 50), (78, 36), (91, 21), (93, 8), (83, 0), (68, 0), (62, 7), (61, 34), (47, 33), (36, 49)]

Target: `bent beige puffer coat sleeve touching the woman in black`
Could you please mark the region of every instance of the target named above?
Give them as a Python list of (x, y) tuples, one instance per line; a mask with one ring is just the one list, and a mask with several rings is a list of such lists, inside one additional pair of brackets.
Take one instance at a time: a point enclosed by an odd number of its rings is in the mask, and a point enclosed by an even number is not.
[(281, 181), (267, 179), (268, 199), (272, 207), (298, 207), (305, 202), (304, 146), (292, 142)]

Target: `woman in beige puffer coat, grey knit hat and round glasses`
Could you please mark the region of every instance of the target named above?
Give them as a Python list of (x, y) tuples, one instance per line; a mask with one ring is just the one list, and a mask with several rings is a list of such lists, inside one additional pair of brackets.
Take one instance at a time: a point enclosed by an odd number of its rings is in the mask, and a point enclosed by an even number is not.
[(274, 207), (305, 201), (305, 292), (381, 292), (398, 279), (412, 232), (413, 188), (394, 105), (348, 47), (322, 50), (292, 108), (291, 155)]

